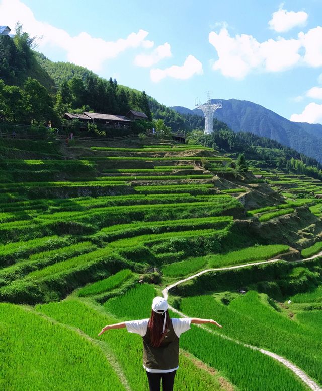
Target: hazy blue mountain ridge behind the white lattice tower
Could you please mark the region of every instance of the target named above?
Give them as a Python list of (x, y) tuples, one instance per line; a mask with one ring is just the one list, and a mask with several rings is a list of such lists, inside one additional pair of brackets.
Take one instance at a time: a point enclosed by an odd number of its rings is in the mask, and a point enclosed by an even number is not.
[[(322, 125), (291, 122), (265, 107), (238, 99), (221, 99), (222, 109), (214, 117), (225, 122), (234, 132), (251, 132), (268, 137), (322, 162)], [(211, 102), (217, 102), (212, 99)], [(200, 109), (171, 107), (180, 114), (203, 116)]]

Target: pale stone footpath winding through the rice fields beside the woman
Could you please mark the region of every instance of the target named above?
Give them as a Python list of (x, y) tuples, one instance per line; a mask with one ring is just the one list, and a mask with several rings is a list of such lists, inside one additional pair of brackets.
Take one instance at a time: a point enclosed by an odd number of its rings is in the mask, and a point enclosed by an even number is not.
[[(322, 251), (320, 251), (318, 254), (314, 255), (314, 256), (311, 256), (309, 258), (306, 258), (306, 259), (298, 259), (296, 261), (292, 261), (292, 263), (294, 262), (305, 262), (307, 260), (311, 260), (311, 259), (315, 259), (319, 256), (322, 255)], [(189, 280), (192, 280), (198, 276), (201, 276), (202, 274), (205, 274), (205, 273), (208, 273), (208, 272), (219, 272), (219, 271), (222, 271), (222, 270), (232, 270), (232, 269), (241, 269), (241, 268), (246, 268), (248, 266), (255, 266), (255, 265), (262, 265), (262, 264), (272, 264), (272, 263), (275, 263), (275, 262), (289, 262), (289, 261), (285, 261), (283, 259), (270, 259), (270, 260), (265, 260), (263, 262), (253, 262), (253, 263), (250, 263), (250, 264), (243, 264), (243, 265), (236, 265), (236, 266), (229, 266), (229, 267), (225, 267), (225, 268), (216, 268), (216, 269), (205, 269), (205, 270), (202, 270), (201, 272), (199, 273), (196, 273), (190, 277), (187, 277), (183, 280), (180, 280), (180, 281), (177, 281), (176, 283), (172, 284), (172, 285), (169, 285), (167, 286), (165, 289), (163, 289), (162, 291), (162, 294), (163, 294), (163, 297), (167, 300), (168, 299), (168, 295), (169, 295), (169, 291), (173, 288), (175, 288), (177, 285), (180, 285), (182, 284), (183, 282), (186, 282), (186, 281), (189, 281)], [(179, 314), (180, 316), (182, 317), (188, 317), (187, 315), (185, 315), (184, 313), (182, 312), (179, 312), (178, 310), (176, 310), (175, 308), (169, 306), (169, 308), (173, 311), (173, 312), (176, 312), (177, 314)], [(282, 356), (279, 356), (278, 354), (276, 353), (273, 353), (273, 352), (270, 352), (268, 350), (265, 350), (265, 349), (260, 349), (258, 348), (257, 346), (252, 346), (252, 345), (248, 345), (248, 344), (244, 344), (243, 342), (240, 342), (240, 341), (237, 341), (231, 337), (228, 337), (228, 336), (225, 336), (221, 333), (217, 333), (215, 332), (214, 330), (212, 329), (208, 329), (207, 327), (203, 326), (203, 325), (199, 325), (198, 324), (198, 327), (201, 327), (202, 329), (206, 330), (208, 333), (212, 333), (212, 334), (216, 334), (222, 338), (225, 338), (227, 340), (230, 340), (230, 341), (233, 341), (235, 342), (236, 344), (239, 344), (239, 345), (243, 345), (247, 348), (250, 348), (250, 349), (254, 349), (254, 350), (257, 350), (263, 354), (266, 354), (267, 356), (270, 356), (272, 358), (274, 358), (275, 360), (279, 361), (281, 364), (285, 365), (287, 368), (289, 368), (296, 376), (298, 376), (310, 389), (312, 389), (313, 391), (322, 391), (322, 388), (317, 384), (315, 383), (314, 380), (312, 380), (305, 372), (303, 372), (299, 367), (297, 367), (296, 365), (294, 365), (292, 362), (288, 361), (286, 358), (282, 357)]]

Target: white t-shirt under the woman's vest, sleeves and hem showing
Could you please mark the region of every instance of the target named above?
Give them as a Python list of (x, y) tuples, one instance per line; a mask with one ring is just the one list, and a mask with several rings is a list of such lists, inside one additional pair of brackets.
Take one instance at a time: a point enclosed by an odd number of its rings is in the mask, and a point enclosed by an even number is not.
[[(171, 321), (172, 321), (174, 332), (176, 333), (178, 338), (180, 338), (182, 333), (190, 329), (191, 318), (180, 318), (180, 319), (171, 318)], [(139, 334), (141, 337), (144, 337), (147, 331), (148, 322), (149, 319), (130, 320), (125, 322), (125, 325), (129, 333)], [(172, 368), (172, 369), (151, 369), (143, 365), (143, 368), (150, 373), (167, 373), (167, 372), (176, 371), (179, 368), (179, 366), (177, 368)]]

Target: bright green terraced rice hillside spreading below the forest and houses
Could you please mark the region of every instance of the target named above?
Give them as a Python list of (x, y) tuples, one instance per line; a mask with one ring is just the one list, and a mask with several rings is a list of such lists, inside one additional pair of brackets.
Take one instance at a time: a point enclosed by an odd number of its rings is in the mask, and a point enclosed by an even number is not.
[(318, 191), (238, 174), (201, 145), (0, 143), (3, 389), (146, 389), (140, 338), (98, 332), (148, 317), (164, 287), (213, 268), (170, 290), (174, 308), (224, 325), (183, 336), (180, 389), (308, 389), (244, 344), (322, 384), (322, 263), (303, 260), (322, 249)]

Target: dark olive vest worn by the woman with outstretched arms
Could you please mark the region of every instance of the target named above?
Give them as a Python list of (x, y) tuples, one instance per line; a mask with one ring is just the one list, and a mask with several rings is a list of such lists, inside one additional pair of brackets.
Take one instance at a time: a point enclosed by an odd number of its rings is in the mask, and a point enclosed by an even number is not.
[(143, 337), (143, 364), (150, 369), (174, 369), (179, 365), (179, 338), (170, 320), (169, 329), (158, 348), (151, 346), (150, 331)]

